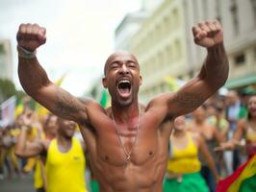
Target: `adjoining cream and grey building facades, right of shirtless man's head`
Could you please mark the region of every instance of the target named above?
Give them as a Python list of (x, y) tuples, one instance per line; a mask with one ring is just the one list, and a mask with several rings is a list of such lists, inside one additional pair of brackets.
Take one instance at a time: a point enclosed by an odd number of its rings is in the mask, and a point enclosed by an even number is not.
[(141, 64), (140, 99), (169, 90), (166, 77), (191, 79), (206, 50), (196, 46), (192, 26), (218, 19), (230, 61), (228, 88), (256, 84), (256, 0), (165, 0), (131, 37), (131, 52)]

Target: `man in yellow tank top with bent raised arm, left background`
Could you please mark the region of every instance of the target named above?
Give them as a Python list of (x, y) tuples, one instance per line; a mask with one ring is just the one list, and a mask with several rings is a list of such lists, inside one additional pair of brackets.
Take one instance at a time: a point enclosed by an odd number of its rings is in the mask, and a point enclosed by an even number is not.
[(24, 122), (26, 126), (22, 127), (17, 139), (15, 154), (21, 157), (45, 156), (46, 191), (87, 192), (85, 146), (73, 137), (75, 123), (58, 117), (56, 138), (29, 143), (26, 142), (29, 128), (26, 116)]

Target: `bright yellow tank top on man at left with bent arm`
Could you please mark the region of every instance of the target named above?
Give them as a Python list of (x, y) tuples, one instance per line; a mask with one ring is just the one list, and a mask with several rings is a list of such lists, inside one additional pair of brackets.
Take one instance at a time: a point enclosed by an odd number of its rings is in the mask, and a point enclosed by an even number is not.
[(86, 192), (86, 158), (78, 139), (72, 138), (67, 153), (58, 149), (57, 139), (49, 145), (45, 172), (47, 192)]

